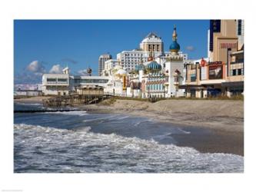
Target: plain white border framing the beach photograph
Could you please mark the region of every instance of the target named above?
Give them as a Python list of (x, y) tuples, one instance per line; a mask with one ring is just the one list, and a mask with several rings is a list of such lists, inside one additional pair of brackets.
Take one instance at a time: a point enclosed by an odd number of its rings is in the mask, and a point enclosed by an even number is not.
[[(253, 2), (253, 1), (251, 1)], [(2, 1), (1, 180), (0, 190), (30, 191), (243, 191), (253, 189), (254, 6), (245, 1)], [(253, 16), (254, 15), (254, 16)], [(13, 174), (13, 19), (245, 19), (244, 174)], [(193, 29), (191, 29), (193, 30)], [(246, 189), (245, 189), (246, 187)]]

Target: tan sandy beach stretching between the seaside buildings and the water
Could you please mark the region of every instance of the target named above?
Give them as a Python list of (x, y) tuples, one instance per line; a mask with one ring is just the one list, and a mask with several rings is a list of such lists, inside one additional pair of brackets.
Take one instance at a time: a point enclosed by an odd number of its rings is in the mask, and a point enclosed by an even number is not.
[[(42, 103), (42, 99), (23, 98), (15, 102)], [(178, 106), (178, 107), (177, 107)], [(181, 106), (181, 107), (179, 107)], [(75, 108), (102, 113), (119, 113), (151, 118), (158, 122), (179, 125), (191, 134), (172, 135), (177, 145), (194, 147), (201, 153), (225, 153), (244, 156), (243, 101), (147, 101), (108, 100), (99, 104), (76, 104)], [(203, 108), (198, 111), (199, 108)], [(226, 110), (224, 110), (227, 108)], [(208, 130), (209, 134), (201, 134)]]

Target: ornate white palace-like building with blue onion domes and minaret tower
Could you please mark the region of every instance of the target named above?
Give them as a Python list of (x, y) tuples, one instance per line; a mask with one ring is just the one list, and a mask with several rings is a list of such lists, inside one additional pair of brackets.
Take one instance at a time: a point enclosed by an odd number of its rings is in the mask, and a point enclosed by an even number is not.
[(147, 61), (135, 66), (128, 76), (127, 95), (138, 98), (171, 98), (183, 97), (184, 90), (178, 88), (185, 79), (184, 57), (179, 54), (176, 27), (172, 35), (172, 43), (168, 58), (153, 57), (151, 49)]

